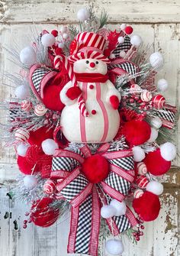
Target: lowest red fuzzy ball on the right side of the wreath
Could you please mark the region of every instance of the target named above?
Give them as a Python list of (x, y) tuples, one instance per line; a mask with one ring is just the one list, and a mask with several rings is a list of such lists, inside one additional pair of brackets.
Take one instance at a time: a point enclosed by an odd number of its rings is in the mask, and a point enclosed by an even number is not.
[(160, 210), (159, 197), (148, 191), (139, 198), (133, 199), (133, 209), (140, 215), (140, 219), (151, 222), (157, 218)]

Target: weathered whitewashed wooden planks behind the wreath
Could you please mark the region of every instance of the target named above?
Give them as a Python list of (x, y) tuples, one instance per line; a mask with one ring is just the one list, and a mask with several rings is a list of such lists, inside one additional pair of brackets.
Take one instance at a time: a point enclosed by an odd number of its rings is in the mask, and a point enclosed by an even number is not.
[[(104, 8), (109, 14), (109, 26), (118, 28), (118, 24), (133, 24), (134, 33), (143, 37), (144, 44), (152, 45), (153, 50), (161, 50), (165, 57), (164, 70), (157, 78), (169, 80), (166, 97), (175, 104), (179, 99), (179, 60), (180, 60), (180, 0), (140, 1), (58, 1), (58, 0), (7, 0), (0, 1), (0, 97), (13, 95), (9, 83), (3, 76), (7, 72), (18, 72), (18, 66), (11, 63), (4, 47), (17, 47), (19, 50), (31, 41), (34, 28), (58, 28), (59, 24), (76, 24), (76, 12), (82, 6), (93, 4), (97, 12)], [(1, 122), (5, 114), (0, 115)], [(179, 152), (179, 126), (175, 141)], [(20, 203), (11, 203), (6, 193), (14, 186), (18, 173), (12, 148), (0, 145), (0, 248), (2, 256), (66, 256), (66, 240), (69, 232), (69, 216), (50, 228), (37, 228), (29, 225), (22, 228), (25, 207)], [(179, 166), (179, 158), (174, 162)], [(178, 167), (166, 175), (165, 193), (162, 195), (162, 210), (159, 219), (146, 225), (145, 235), (138, 245), (126, 240), (123, 256), (178, 256), (179, 248), (179, 190), (180, 174)], [(8, 218), (6, 215), (8, 212)], [(5, 215), (6, 213), (6, 215)], [(11, 213), (11, 214), (10, 214)], [(14, 229), (14, 220), (18, 222), (18, 231)]]

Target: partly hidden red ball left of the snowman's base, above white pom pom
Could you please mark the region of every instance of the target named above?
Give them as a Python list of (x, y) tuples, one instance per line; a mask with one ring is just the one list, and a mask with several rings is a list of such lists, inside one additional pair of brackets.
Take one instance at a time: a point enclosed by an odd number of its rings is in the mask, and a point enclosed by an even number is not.
[(36, 131), (30, 131), (28, 142), (41, 146), (41, 143), (47, 138), (53, 138), (53, 129), (48, 130), (46, 127), (41, 127)]

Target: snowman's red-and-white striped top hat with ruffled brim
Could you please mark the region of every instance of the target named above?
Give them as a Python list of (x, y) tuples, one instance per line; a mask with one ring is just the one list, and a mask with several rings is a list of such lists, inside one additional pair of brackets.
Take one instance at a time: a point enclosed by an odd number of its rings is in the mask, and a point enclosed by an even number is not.
[(100, 34), (93, 32), (82, 32), (77, 34), (70, 46), (70, 62), (82, 59), (96, 59), (110, 63), (108, 57), (104, 56), (106, 40)]

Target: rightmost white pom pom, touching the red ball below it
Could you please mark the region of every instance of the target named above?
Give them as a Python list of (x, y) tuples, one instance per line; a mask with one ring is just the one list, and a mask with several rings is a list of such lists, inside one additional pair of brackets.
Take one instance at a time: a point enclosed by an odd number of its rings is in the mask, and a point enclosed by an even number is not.
[(166, 142), (160, 145), (160, 152), (166, 161), (172, 161), (176, 156), (176, 147), (171, 142)]

